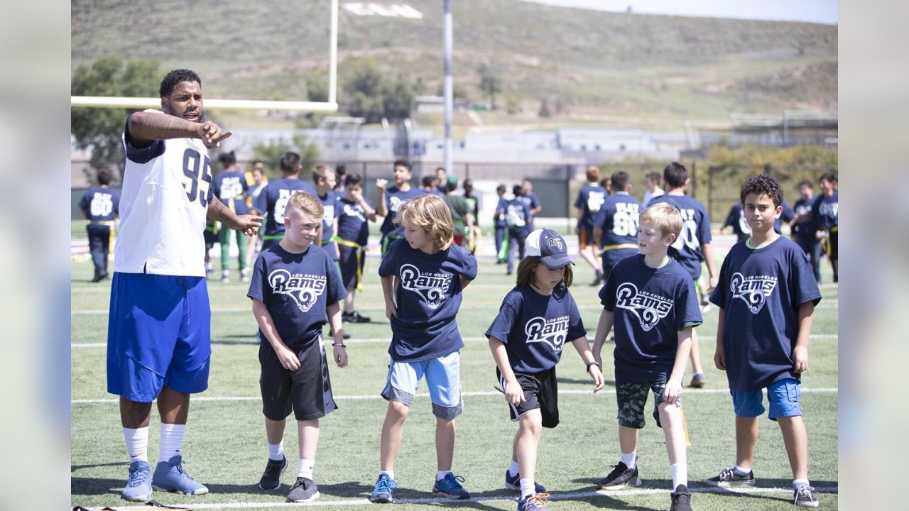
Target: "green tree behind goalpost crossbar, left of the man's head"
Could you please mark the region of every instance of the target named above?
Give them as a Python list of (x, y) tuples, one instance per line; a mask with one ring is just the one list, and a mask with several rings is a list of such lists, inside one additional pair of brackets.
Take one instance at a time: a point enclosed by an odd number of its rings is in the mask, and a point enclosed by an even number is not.
[[(72, 95), (114, 95), (157, 97), (162, 72), (157, 60), (135, 59), (124, 62), (118, 56), (104, 56), (91, 66), (79, 65), (70, 83)], [(91, 150), (89, 167), (115, 168), (123, 175), (123, 143), (126, 108), (74, 107), (70, 130), (79, 149)]]

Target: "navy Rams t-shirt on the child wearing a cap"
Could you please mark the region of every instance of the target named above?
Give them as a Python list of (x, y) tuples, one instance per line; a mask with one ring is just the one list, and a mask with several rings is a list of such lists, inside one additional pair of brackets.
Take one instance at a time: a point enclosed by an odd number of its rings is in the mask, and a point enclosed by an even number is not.
[(554, 367), (565, 343), (587, 335), (574, 297), (564, 284), (544, 296), (531, 286), (516, 286), (505, 295), (499, 314), (486, 330), (505, 345), (508, 363), (518, 373), (540, 373)]

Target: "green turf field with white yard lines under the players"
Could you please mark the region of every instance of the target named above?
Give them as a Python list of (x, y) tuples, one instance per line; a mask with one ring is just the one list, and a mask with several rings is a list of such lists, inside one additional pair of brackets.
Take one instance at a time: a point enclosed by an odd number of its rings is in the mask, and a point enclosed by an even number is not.
[[(717, 250), (721, 257), (724, 250)], [(824, 260), (825, 282), (830, 282)], [(384, 317), (381, 290), (375, 271), (377, 259), (366, 265), (366, 291), (356, 298), (357, 308), (374, 323), (346, 326), (350, 366), (332, 368), (339, 409), (321, 422), (321, 442), (315, 479), (322, 494), (315, 505), (363, 508), (378, 506), (367, 497), (378, 472), (379, 436), (385, 401), (386, 349), (390, 330)], [(719, 269), (719, 264), (717, 264)], [(72, 267), (72, 503), (74, 506), (128, 509), (120, 499), (127, 475), (127, 456), (115, 396), (105, 392), (105, 341), (109, 281), (90, 284), (90, 262)], [(587, 286), (593, 272), (575, 266), (572, 293), (593, 341), (600, 306), (597, 288)], [(464, 476), (473, 496), (470, 501), (435, 498), (430, 489), (435, 476), (435, 417), (425, 395), (415, 399), (405, 426), (404, 442), (395, 465), (401, 489), (395, 509), (430, 509), (438, 506), (473, 509), (514, 509), (516, 492), (503, 487), (515, 425), (494, 386), (494, 362), (483, 337), (504, 294), (514, 285), (504, 266), (480, 258), (480, 276), (464, 292), (458, 316), (465, 344), (462, 352), (464, 415), (457, 420), (454, 472)], [(825, 509), (837, 506), (837, 287), (822, 286), (824, 300), (815, 309), (810, 366), (803, 377), (804, 421), (808, 429), (809, 473)], [(271, 509), (287, 506), (285, 496), (295, 474), (296, 431), (288, 425), (285, 452), (288, 470), (279, 490), (255, 487), (267, 457), (265, 431), (258, 397), (258, 346), (255, 320), (246, 286), (238, 282), (209, 283), (213, 309), (212, 372), (209, 389), (195, 396), (185, 439), (185, 468), (210, 489), (206, 496), (176, 496), (155, 492), (166, 505), (194, 509)], [(754, 474), (757, 486), (747, 493), (719, 490), (703, 483), (734, 463), (734, 416), (725, 376), (712, 362), (716, 309), (697, 328), (704, 389), (685, 388), (684, 411), (692, 445), (688, 473), (699, 511), (720, 509), (792, 509), (791, 473), (779, 428), (766, 418), (760, 422)], [(326, 330), (327, 333), (327, 330)], [(589, 376), (573, 348), (567, 348), (558, 366), (562, 424), (545, 430), (540, 445), (537, 479), (552, 496), (550, 508), (668, 509), (671, 475), (662, 431), (649, 420), (638, 446), (644, 485), (634, 489), (594, 492), (594, 483), (618, 462), (612, 347), (604, 348), (607, 386), (594, 395)], [(686, 376), (687, 378), (690, 375)], [(649, 414), (648, 414), (649, 416)], [(158, 454), (158, 419), (153, 412), (149, 458)], [(291, 424), (293, 424), (291, 422)]]

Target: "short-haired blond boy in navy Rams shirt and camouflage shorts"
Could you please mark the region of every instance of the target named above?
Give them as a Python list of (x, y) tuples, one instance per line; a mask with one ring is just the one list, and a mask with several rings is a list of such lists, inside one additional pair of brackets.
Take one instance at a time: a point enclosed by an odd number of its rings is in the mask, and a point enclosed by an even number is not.
[(702, 323), (697, 292), (688, 272), (667, 254), (682, 231), (682, 216), (656, 204), (641, 214), (640, 255), (614, 266), (600, 290), (604, 306), (594, 337), (599, 362), (606, 336), (615, 326), (615, 395), (618, 398), (621, 459), (597, 488), (639, 486), (636, 459), (644, 405), (654, 393), (656, 426), (663, 427), (673, 475), (670, 511), (690, 511), (688, 465), (682, 416), (682, 379), (694, 326)]

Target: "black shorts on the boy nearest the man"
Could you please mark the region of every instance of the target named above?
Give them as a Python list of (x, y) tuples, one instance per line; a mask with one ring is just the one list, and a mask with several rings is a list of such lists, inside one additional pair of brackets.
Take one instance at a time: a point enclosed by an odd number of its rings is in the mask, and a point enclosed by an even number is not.
[(260, 339), (259, 388), (262, 391), (262, 413), (266, 418), (280, 421), (294, 411), (296, 420), (314, 420), (324, 417), (337, 408), (328, 379), (328, 362), (325, 346), (320, 338), (296, 352), (300, 367), (288, 371), (281, 366), (275, 348)]

